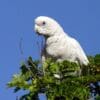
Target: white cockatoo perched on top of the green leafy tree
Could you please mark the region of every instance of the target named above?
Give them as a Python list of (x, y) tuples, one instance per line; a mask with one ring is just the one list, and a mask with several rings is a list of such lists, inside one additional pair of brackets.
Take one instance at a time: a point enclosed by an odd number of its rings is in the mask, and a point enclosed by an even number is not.
[(88, 65), (89, 61), (79, 42), (65, 33), (54, 19), (47, 16), (37, 17), (35, 32), (45, 37), (42, 62), (51, 57), (56, 61), (68, 60), (80, 65)]

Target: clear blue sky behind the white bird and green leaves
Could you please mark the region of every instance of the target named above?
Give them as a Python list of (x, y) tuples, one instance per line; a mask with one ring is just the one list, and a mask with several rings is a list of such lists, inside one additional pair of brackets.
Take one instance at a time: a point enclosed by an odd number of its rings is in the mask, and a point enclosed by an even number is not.
[(6, 83), (19, 72), (22, 61), (29, 56), (40, 58), (37, 42), (41, 44), (41, 38), (34, 32), (38, 16), (56, 19), (66, 33), (80, 42), (87, 55), (100, 53), (100, 0), (0, 0), (1, 100), (15, 100), (23, 94), (14, 94)]

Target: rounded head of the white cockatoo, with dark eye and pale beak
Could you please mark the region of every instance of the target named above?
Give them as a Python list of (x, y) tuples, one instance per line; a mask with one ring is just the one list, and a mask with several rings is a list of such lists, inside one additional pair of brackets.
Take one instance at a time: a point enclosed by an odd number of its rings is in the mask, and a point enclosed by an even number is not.
[(39, 16), (35, 19), (35, 32), (43, 36), (53, 36), (63, 31), (61, 26), (52, 18)]

